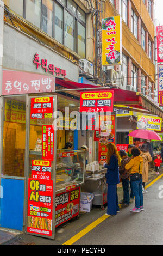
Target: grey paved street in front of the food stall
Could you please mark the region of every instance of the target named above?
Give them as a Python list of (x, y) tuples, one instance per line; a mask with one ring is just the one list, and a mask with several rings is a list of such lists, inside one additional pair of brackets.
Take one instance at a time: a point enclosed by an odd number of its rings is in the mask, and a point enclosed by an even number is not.
[[(159, 186), (163, 185), (163, 178), (154, 182), (144, 195), (145, 211), (132, 213), (129, 208), (123, 208), (116, 216), (109, 216), (96, 225), (77, 241), (74, 238), (72, 245), (162, 245), (163, 234), (163, 198), (159, 198)], [(162, 193), (163, 194), (163, 193)], [(106, 208), (105, 208), (106, 211)], [(92, 222), (104, 215), (100, 208), (93, 207), (90, 213), (81, 214), (74, 220), (56, 229), (55, 240), (42, 239), (31, 235), (18, 235), (26, 243), (35, 245), (62, 245), (71, 237), (87, 228)], [(12, 245), (16, 239), (5, 243)], [(72, 240), (73, 241), (73, 240)]]

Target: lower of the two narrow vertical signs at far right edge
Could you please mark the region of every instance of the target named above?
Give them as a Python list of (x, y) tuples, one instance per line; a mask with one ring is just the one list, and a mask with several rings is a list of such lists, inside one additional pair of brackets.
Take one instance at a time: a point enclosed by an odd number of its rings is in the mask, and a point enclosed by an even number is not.
[(163, 105), (163, 64), (158, 65), (158, 103)]

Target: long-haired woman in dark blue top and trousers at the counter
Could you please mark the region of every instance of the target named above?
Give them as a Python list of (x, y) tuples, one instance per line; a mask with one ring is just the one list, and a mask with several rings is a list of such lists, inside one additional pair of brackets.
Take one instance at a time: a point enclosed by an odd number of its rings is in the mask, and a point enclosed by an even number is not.
[(117, 196), (117, 184), (120, 183), (120, 156), (113, 143), (108, 143), (107, 148), (107, 163), (100, 161), (100, 163), (103, 164), (105, 168), (107, 168), (106, 183), (108, 184), (108, 209), (106, 215), (116, 215), (117, 212), (120, 211)]

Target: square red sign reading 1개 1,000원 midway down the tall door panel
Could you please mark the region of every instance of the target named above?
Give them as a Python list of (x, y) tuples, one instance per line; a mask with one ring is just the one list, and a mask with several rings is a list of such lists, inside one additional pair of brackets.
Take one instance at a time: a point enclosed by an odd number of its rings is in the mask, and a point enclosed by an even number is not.
[(51, 161), (32, 160), (32, 179), (51, 180)]

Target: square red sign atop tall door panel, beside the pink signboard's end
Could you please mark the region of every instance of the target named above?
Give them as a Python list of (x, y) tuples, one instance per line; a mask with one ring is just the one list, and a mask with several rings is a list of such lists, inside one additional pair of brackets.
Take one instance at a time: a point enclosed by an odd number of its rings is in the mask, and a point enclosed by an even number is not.
[(30, 118), (52, 118), (53, 97), (40, 97), (31, 99)]

